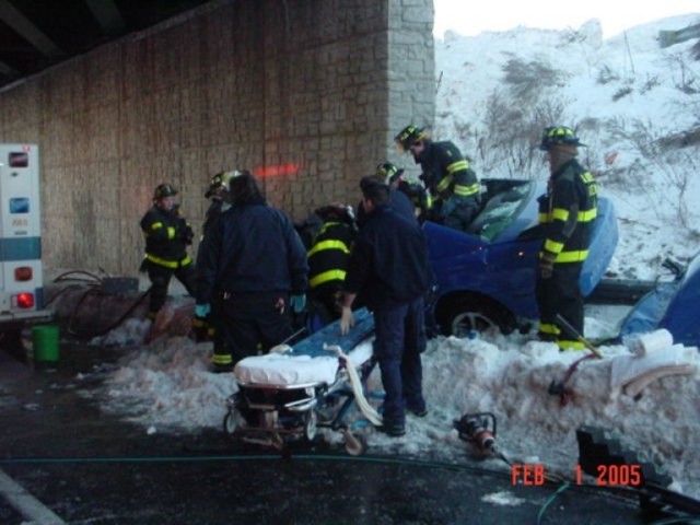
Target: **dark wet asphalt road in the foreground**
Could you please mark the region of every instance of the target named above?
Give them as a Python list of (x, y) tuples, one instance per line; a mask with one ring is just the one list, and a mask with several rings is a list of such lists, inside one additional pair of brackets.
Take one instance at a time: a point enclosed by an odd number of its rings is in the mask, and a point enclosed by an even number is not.
[[(109, 352), (63, 341), (55, 370), (34, 370), (0, 351), (0, 523), (625, 525), (660, 517), (629, 494), (514, 485), (504, 470), (467, 459), (353, 457), (323, 443), (282, 455), (212, 430), (148, 435), (100, 409), (94, 366)], [(89, 371), (94, 380), (75, 381)]]

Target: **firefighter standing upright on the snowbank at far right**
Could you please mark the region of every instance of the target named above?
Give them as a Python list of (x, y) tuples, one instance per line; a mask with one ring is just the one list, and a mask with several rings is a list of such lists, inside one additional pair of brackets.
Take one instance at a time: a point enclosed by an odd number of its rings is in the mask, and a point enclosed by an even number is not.
[[(583, 349), (583, 294), (580, 277), (588, 255), (597, 214), (597, 186), (591, 172), (576, 161), (581, 143), (567, 127), (545, 129), (539, 149), (547, 152), (548, 191), (539, 198), (539, 222), (545, 241), (539, 254), (536, 284), (538, 337), (556, 341), (560, 350)], [(557, 326), (561, 315), (578, 331)]]

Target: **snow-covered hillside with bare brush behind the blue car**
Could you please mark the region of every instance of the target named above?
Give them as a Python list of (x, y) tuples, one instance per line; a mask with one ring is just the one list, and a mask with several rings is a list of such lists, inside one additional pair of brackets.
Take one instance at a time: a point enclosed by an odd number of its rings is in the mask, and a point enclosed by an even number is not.
[(435, 44), (433, 137), (457, 143), (481, 177), (538, 178), (542, 128), (574, 127), (588, 144), (582, 163), (617, 209), (611, 276), (655, 279), (665, 257), (685, 262), (700, 247), (700, 44), (658, 42), (698, 23), (674, 16), (607, 40), (597, 21), (447, 33)]

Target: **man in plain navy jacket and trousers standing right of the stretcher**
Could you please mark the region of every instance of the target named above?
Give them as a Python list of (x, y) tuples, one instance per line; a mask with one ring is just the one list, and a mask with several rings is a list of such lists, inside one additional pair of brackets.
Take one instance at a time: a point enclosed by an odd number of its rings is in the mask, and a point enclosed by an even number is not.
[(374, 315), (375, 355), (384, 386), (384, 424), (390, 436), (406, 433), (406, 410), (425, 416), (422, 393), (423, 296), (431, 284), (425, 235), (413, 219), (389, 205), (389, 188), (376, 177), (360, 184), (366, 221), (355, 241), (345, 282), (341, 334), (353, 325), (359, 293)]

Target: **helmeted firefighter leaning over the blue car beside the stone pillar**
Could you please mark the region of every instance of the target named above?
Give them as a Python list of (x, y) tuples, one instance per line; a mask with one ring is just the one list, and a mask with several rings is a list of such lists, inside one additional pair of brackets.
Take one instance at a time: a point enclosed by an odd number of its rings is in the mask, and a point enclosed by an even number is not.
[(423, 128), (412, 124), (394, 140), (420, 164), (420, 178), (433, 198), (434, 219), (447, 228), (466, 231), (479, 211), (481, 189), (469, 161), (453, 142), (433, 142)]

